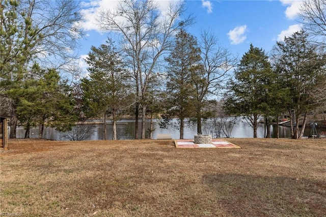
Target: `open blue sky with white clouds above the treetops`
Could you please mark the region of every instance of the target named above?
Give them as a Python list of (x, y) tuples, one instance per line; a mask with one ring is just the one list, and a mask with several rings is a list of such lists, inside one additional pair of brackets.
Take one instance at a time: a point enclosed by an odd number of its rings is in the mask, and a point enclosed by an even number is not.
[[(176, 0), (174, 0), (176, 1)], [(156, 1), (164, 11), (167, 0)], [(262, 48), (268, 54), (277, 41), (300, 31), (298, 22), (300, 0), (269, 1), (185, 1), (186, 13), (192, 13), (196, 22), (186, 30), (199, 39), (201, 30), (210, 30), (219, 38), (222, 47), (230, 50), (239, 59), (249, 50), (250, 44)], [(96, 24), (99, 11), (115, 8), (116, 0), (83, 1), (81, 11), (85, 21), (82, 23), (86, 37), (80, 41), (78, 50), (79, 65), (86, 72), (87, 57), (91, 46), (104, 44), (108, 34)]]

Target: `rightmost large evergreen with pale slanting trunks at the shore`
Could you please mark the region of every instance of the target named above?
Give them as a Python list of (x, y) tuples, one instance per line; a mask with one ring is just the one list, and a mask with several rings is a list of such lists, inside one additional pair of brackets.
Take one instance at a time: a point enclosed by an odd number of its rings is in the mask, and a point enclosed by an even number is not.
[[(304, 31), (285, 37), (284, 42), (277, 42), (274, 48), (275, 65), (283, 88), (288, 89), (286, 106), (291, 118), (291, 133), (294, 139), (302, 138), (308, 112), (317, 104), (313, 93), (325, 84), (325, 57), (318, 53), (316, 45), (309, 43)], [(303, 116), (302, 130), (299, 120)], [(294, 128), (293, 128), (294, 126)]]

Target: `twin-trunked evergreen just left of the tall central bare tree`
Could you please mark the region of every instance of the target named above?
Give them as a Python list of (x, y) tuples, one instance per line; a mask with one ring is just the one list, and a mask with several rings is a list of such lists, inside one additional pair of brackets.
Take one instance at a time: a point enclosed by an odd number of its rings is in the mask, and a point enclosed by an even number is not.
[(128, 83), (119, 53), (109, 39), (106, 44), (91, 47), (86, 62), (90, 66), (89, 78), (82, 79), (86, 115), (104, 117), (104, 140), (106, 140), (106, 116), (113, 120), (113, 139), (117, 139), (116, 122), (127, 107)]

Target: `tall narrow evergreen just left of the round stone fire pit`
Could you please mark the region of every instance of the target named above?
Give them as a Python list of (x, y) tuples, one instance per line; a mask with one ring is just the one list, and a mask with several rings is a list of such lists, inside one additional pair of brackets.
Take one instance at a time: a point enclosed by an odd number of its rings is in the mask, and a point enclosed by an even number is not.
[(201, 72), (201, 57), (196, 38), (181, 30), (176, 35), (174, 50), (166, 61), (170, 111), (180, 121), (180, 139), (183, 139), (184, 120), (196, 114), (196, 91), (201, 85), (198, 76)]

